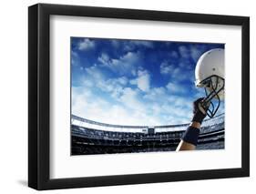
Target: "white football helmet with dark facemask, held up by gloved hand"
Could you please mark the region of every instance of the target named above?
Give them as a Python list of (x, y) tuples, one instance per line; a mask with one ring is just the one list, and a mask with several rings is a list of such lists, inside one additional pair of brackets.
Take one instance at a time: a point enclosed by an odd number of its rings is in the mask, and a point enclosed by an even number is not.
[[(209, 117), (214, 117), (220, 107), (220, 100), (224, 99), (224, 64), (224, 49), (216, 48), (200, 56), (195, 69), (195, 85), (204, 87), (206, 93), (206, 97), (200, 103), (200, 110)], [(218, 100), (216, 108), (211, 102), (213, 98)]]

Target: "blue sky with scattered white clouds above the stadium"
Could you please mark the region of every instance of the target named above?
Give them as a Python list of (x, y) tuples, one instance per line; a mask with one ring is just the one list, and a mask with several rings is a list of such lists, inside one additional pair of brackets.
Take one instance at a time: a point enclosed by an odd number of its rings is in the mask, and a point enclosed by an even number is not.
[[(199, 57), (223, 44), (71, 37), (72, 114), (119, 125), (188, 123)], [(219, 113), (223, 111), (223, 106)]]

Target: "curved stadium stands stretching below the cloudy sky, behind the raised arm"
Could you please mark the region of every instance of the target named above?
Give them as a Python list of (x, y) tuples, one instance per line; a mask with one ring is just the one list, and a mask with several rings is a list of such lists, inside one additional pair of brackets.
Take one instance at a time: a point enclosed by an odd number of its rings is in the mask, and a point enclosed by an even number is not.
[[(71, 116), (71, 155), (174, 151), (189, 123), (121, 126)], [(224, 114), (205, 119), (197, 149), (224, 148)]]

